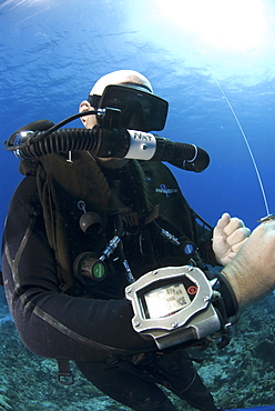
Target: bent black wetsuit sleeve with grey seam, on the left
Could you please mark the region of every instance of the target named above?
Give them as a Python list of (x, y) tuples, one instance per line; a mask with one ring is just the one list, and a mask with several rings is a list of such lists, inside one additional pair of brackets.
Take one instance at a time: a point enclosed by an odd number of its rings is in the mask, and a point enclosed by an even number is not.
[(26, 178), (11, 201), (2, 271), (16, 327), (27, 348), (39, 355), (85, 361), (99, 350), (123, 353), (156, 348), (152, 339), (144, 340), (133, 330), (129, 301), (61, 293), (34, 178)]

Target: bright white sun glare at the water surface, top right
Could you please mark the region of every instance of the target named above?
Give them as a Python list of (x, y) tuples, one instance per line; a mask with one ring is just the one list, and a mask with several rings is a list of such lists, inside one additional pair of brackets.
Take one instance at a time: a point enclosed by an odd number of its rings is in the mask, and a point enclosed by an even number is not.
[(262, 44), (261, 0), (159, 0), (166, 21), (213, 48), (245, 51)]

